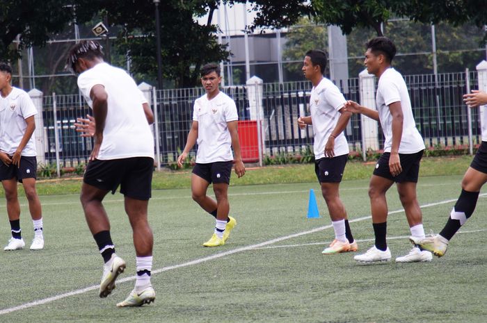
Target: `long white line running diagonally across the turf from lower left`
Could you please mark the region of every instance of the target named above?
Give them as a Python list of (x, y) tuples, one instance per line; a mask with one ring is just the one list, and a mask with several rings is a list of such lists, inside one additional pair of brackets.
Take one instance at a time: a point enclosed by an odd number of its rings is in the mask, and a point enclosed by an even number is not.
[[(487, 195), (487, 193), (481, 194), (481, 196), (485, 196), (485, 195)], [(441, 204), (451, 203), (452, 201), (456, 201), (456, 199), (449, 199), (449, 200), (446, 200), (446, 201), (439, 201), (439, 202), (436, 202), (436, 203), (425, 204), (423, 206), (420, 206), (420, 208), (429, 208), (431, 206), (438, 206), (438, 205), (441, 205)], [(394, 211), (389, 212), (388, 214), (401, 213), (401, 212), (404, 212), (404, 209), (394, 210)], [(363, 220), (368, 220), (370, 218), (372, 218), (372, 216), (367, 215), (365, 217), (358, 217), (357, 219), (350, 220), (350, 222), (360, 222), (360, 221), (363, 221)], [(204, 258), (198, 258), (198, 259), (195, 259), (195, 260), (191, 260), (191, 261), (188, 261), (186, 263), (180, 263), (179, 265), (172, 265), (172, 266), (162, 267), (162, 268), (160, 268), (158, 270), (153, 270), (152, 271), (152, 274), (159, 274), (161, 272), (167, 272), (169, 270), (175, 270), (175, 269), (182, 268), (182, 267), (189, 267), (189, 266), (193, 266), (193, 265), (198, 265), (200, 263), (205, 263), (205, 262), (210, 261), (210, 260), (222, 258), (222, 257), (225, 257), (225, 256), (230, 256), (232, 254), (238, 254), (238, 253), (243, 252), (243, 251), (248, 251), (248, 250), (252, 250), (252, 249), (266, 247), (266, 246), (272, 245), (273, 243), (276, 243), (276, 242), (281, 242), (281, 241), (284, 241), (284, 240), (289, 240), (289, 239), (292, 239), (292, 238), (297, 238), (297, 237), (300, 237), (301, 235), (308, 235), (310, 233), (316, 233), (316, 232), (319, 232), (319, 231), (324, 231), (324, 230), (330, 229), (332, 227), (333, 226), (331, 226), (331, 225), (319, 226), (318, 228), (315, 228), (315, 229), (311, 229), (311, 230), (308, 230), (308, 231), (302, 231), (302, 232), (294, 233), (294, 234), (291, 234), (291, 235), (285, 235), (285, 236), (280, 237), (280, 238), (275, 238), (275, 239), (267, 240), (267, 241), (264, 241), (264, 242), (261, 242), (261, 243), (257, 243), (256, 245), (248, 245), (247, 247), (240, 247), (240, 248), (237, 248), (237, 249), (233, 249), (233, 250), (221, 252), (221, 253), (218, 253), (218, 254), (214, 254), (214, 255), (211, 255), (211, 256), (207, 256), (207, 257), (204, 257)], [(126, 281), (134, 281), (134, 280), (135, 280), (135, 276), (130, 276), (130, 277), (126, 277), (125, 279), (118, 279), (117, 282), (118, 283), (125, 283)], [(57, 301), (59, 299), (63, 299), (63, 298), (66, 298), (66, 297), (70, 297), (70, 296), (74, 296), (74, 295), (80, 295), (80, 294), (83, 294), (85, 292), (90, 292), (92, 290), (97, 290), (98, 288), (99, 288), (99, 285), (91, 285), (91, 286), (88, 286), (86, 288), (81, 288), (79, 290), (72, 290), (71, 292), (65, 292), (63, 294), (55, 295), (55, 296), (52, 296), (52, 297), (47, 297), (45, 299), (38, 299), (36, 301), (29, 301), (28, 303), (24, 303), (24, 304), (21, 304), (21, 305), (18, 305), (18, 306), (13, 306), (13, 307), (10, 307), (10, 308), (4, 308), (3, 310), (0, 310), (0, 315), (12, 313), (12, 312), (15, 312), (17, 310), (24, 310), (26, 308), (31, 308), (31, 307), (34, 307), (34, 306), (39, 306), (39, 305), (42, 305), (42, 304), (47, 304), (47, 303), (50, 303), (51, 301)]]

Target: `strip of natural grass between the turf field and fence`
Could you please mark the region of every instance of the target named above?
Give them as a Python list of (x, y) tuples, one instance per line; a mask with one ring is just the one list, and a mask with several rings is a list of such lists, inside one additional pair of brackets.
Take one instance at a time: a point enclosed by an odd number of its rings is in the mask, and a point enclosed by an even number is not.
[[(470, 165), (471, 156), (453, 158), (423, 158), (420, 176), (461, 175)], [(349, 162), (346, 164), (344, 181), (352, 179), (369, 179), (375, 163)], [(314, 174), (314, 164), (268, 166), (248, 169), (245, 176), (237, 179), (232, 174), (231, 185), (256, 185), (277, 183), (307, 183), (317, 181)], [(152, 188), (165, 190), (170, 188), (189, 188), (191, 183), (191, 170), (154, 172)], [(38, 181), (37, 190), (40, 195), (76, 194), (81, 188), (81, 179), (65, 178), (61, 180), (49, 179)], [(19, 190), (19, 195), (24, 195)], [(0, 196), (4, 196), (0, 188)]]

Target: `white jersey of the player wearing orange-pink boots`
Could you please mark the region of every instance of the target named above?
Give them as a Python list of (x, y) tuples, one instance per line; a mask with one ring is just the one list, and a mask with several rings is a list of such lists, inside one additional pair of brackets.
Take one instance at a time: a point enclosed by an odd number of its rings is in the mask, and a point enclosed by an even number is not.
[[(346, 102), (343, 94), (328, 78), (323, 78), (311, 90), (310, 111), (314, 133), (314, 159), (325, 157), (325, 146), (330, 134), (337, 126), (340, 109)], [(344, 131), (335, 138), (335, 156), (349, 154), (349, 144)]]

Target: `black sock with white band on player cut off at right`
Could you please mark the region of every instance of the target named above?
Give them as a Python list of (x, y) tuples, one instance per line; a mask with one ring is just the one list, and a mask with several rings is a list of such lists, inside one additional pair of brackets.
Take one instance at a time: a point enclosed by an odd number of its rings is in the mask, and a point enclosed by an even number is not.
[(445, 237), (447, 240), (451, 240), (453, 238), (456, 231), (458, 231), (458, 229), (460, 229), (463, 225), (459, 218), (462, 218), (464, 215), (462, 221), (466, 221), (472, 215), (472, 213), (474, 213), (478, 198), (479, 192), (467, 192), (466, 190), (462, 190), (460, 197), (458, 197), (458, 200), (456, 201), (456, 204), (452, 210), (452, 213), (450, 213), (447, 224), (445, 224), (445, 227), (440, 232), (442, 237)]

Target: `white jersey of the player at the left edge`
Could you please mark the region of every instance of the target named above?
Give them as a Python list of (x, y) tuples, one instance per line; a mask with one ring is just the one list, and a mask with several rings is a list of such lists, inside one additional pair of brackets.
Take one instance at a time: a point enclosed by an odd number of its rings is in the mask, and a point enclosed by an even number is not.
[[(0, 150), (10, 156), (19, 147), (27, 128), (25, 119), (37, 115), (34, 103), (24, 90), (12, 88), (7, 97), (0, 95)], [(21, 156), (37, 156), (35, 136), (31, 135)]]

